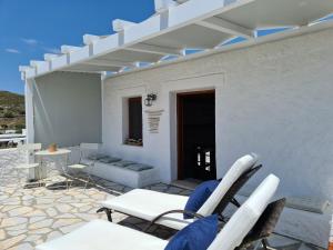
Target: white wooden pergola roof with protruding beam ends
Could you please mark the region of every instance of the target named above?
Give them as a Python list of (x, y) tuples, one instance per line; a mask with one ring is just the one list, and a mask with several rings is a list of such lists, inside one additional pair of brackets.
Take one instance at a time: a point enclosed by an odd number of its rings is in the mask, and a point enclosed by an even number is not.
[(309, 27), (332, 12), (332, 0), (190, 0), (141, 23), (115, 20), (117, 33), (85, 34), (84, 47), (63, 46), (62, 54), (46, 54), (20, 71), (23, 80), (53, 71), (121, 72), (186, 57), (186, 49), (213, 50), (235, 37), (255, 40), (258, 29)]

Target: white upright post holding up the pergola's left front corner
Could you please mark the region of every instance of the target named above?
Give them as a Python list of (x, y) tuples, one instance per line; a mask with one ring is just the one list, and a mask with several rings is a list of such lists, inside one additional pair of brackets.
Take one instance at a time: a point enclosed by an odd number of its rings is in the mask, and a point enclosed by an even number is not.
[(33, 126), (33, 79), (26, 80), (26, 128), (27, 143), (34, 142), (34, 126)]

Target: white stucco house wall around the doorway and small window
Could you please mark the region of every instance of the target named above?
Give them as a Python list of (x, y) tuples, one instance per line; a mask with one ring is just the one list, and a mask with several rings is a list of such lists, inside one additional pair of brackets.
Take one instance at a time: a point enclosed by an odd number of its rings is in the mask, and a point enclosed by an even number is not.
[[(216, 89), (218, 177), (239, 157), (261, 156), (256, 184), (273, 172), (280, 194), (333, 198), (333, 30), (109, 78), (103, 83), (103, 143), (112, 154), (175, 176), (174, 92)], [(122, 144), (122, 98), (158, 92), (159, 134)], [(145, 108), (144, 108), (145, 109)]]

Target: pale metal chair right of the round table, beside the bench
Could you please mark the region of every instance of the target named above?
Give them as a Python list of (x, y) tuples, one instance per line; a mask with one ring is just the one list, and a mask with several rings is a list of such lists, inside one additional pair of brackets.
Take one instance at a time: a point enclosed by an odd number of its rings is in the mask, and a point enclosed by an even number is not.
[[(74, 178), (75, 172), (85, 172), (87, 179), (84, 184), (84, 190), (87, 189), (89, 182), (93, 182), (95, 184), (94, 180), (91, 178), (91, 172), (94, 167), (95, 160), (88, 160), (88, 157), (98, 153), (99, 151), (99, 143), (81, 143), (80, 144), (80, 159), (78, 163), (69, 164), (67, 167), (68, 174), (70, 177)], [(72, 182), (70, 183), (69, 188), (71, 187)]]

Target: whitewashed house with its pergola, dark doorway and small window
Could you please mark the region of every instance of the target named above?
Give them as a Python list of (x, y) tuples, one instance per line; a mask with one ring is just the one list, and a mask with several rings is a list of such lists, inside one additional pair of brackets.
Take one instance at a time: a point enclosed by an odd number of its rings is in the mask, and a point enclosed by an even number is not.
[[(115, 20), (114, 34), (85, 34), (84, 47), (20, 68), (28, 141), (101, 142), (154, 166), (163, 182), (221, 178), (256, 152), (264, 167), (253, 184), (273, 172), (280, 196), (331, 201), (333, 21), (321, 19), (333, 1), (157, 2), (141, 23)], [(316, 227), (305, 238), (325, 247), (329, 216), (303, 218), (291, 234)]]

